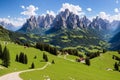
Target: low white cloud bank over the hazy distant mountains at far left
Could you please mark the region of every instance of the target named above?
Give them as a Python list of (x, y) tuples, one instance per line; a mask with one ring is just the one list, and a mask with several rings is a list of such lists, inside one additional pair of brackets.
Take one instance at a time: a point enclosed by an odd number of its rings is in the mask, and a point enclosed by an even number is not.
[(15, 27), (20, 27), (25, 23), (26, 18), (0, 18), (0, 22), (1, 21), (4, 21), (6, 23), (11, 23)]

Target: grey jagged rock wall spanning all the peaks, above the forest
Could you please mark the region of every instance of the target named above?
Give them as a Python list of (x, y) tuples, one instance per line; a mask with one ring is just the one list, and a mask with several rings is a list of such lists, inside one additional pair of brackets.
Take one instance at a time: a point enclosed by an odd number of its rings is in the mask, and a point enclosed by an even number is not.
[[(32, 31), (34, 29), (44, 29), (47, 32), (54, 32), (60, 29), (92, 28), (96, 30), (110, 30), (110, 23), (107, 20), (96, 17), (90, 21), (86, 16), (80, 18), (78, 15), (65, 9), (54, 18), (52, 15), (31, 16), (19, 31)], [(106, 31), (107, 32), (107, 31)]]

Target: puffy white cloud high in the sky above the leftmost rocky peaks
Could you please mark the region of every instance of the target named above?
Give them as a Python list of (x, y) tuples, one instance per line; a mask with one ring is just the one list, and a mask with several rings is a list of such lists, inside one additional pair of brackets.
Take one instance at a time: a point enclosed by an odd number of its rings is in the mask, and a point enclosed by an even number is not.
[(21, 6), (25, 11), (21, 12), (21, 14), (26, 15), (26, 16), (32, 16), (32, 15), (37, 15), (35, 11), (38, 10), (38, 7), (35, 7), (34, 5), (29, 5), (28, 7)]

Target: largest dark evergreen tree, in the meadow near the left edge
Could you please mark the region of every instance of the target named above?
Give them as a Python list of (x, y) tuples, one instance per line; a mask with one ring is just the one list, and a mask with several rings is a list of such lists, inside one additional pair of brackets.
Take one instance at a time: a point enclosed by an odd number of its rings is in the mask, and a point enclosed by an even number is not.
[(10, 65), (10, 54), (6, 46), (3, 51), (3, 63), (2, 64), (5, 67), (8, 67)]

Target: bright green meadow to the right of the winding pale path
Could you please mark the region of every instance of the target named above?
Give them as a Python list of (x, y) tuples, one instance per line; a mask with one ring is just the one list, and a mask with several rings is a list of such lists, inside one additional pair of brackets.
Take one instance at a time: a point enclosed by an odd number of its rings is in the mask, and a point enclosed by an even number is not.
[[(119, 80), (119, 72), (106, 71), (106, 68), (113, 69), (115, 61), (112, 60), (112, 54), (118, 55), (115, 52), (103, 54), (101, 57), (92, 59), (91, 66), (49, 55), (50, 59), (55, 59), (55, 64), (45, 70), (22, 73), (20, 76), (24, 80), (45, 80), (46, 76), (49, 76), (51, 80)], [(71, 56), (68, 58), (74, 59)]]

